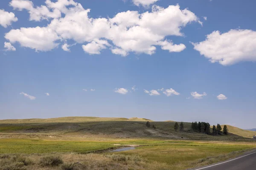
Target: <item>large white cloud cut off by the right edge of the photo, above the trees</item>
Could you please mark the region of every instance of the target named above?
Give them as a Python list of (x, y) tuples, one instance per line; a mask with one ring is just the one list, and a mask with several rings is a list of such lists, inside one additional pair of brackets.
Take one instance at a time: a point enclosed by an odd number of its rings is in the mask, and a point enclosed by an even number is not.
[(232, 29), (223, 34), (213, 31), (205, 41), (192, 44), (209, 61), (232, 65), (241, 61), (256, 61), (255, 40), (256, 31)]

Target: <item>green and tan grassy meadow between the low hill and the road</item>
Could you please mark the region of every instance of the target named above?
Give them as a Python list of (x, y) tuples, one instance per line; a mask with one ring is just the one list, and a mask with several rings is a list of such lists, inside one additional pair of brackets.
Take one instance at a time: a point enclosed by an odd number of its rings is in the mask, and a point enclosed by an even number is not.
[[(105, 150), (116, 144), (138, 144), (135, 150), (120, 153), (88, 153)], [(63, 141), (0, 139), (0, 165), (16, 166), (18, 159), (29, 160), (26, 169), (63, 169), (79, 162), (80, 169), (90, 170), (185, 170), (232, 158), (244, 150), (256, 147), (246, 142), (196, 142), (177, 140), (138, 140), (113, 139), (106, 141)], [(57, 156), (63, 161), (58, 165), (41, 165), (45, 156)], [(19, 158), (21, 159), (21, 158)], [(9, 163), (8, 163), (9, 162)], [(6, 165), (4, 165), (6, 164)], [(75, 166), (75, 165), (74, 165)], [(76, 165), (78, 166), (78, 165)], [(80, 170), (79, 168), (76, 170)], [(1, 170), (1, 168), (0, 168)], [(12, 169), (11, 169), (12, 170)]]

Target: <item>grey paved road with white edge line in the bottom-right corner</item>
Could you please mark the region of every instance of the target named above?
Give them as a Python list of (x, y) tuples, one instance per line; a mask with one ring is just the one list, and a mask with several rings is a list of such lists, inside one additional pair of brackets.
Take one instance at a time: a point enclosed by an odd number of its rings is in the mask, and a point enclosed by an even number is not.
[(256, 170), (256, 150), (235, 159), (193, 170)]

